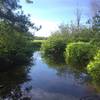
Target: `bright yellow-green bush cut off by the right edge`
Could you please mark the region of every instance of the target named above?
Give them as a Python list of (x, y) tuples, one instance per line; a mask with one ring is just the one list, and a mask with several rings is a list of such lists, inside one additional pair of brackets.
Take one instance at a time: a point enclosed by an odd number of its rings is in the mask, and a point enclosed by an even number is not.
[(94, 60), (87, 65), (87, 71), (95, 82), (100, 82), (100, 50), (98, 50)]

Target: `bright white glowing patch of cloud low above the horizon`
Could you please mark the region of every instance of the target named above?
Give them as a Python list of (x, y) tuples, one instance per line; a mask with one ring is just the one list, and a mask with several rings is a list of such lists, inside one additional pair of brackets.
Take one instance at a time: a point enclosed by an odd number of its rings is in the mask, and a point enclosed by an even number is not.
[[(41, 19), (32, 19), (32, 22), (35, 23), (37, 26), (41, 25), (42, 28), (35, 32), (36, 36), (50, 36), (52, 32), (58, 30), (58, 24), (53, 21), (48, 20), (41, 20)], [(31, 30), (32, 31), (32, 30)]]

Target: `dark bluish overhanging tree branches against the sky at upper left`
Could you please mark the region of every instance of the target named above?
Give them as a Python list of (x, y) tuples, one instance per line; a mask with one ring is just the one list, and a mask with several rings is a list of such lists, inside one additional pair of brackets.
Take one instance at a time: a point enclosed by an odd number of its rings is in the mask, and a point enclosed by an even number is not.
[[(30, 0), (26, 0), (32, 3)], [(15, 10), (19, 11), (15, 13)], [(30, 15), (25, 15), (22, 11), (22, 6), (18, 4), (18, 0), (0, 0), (0, 19), (6, 20), (19, 31), (27, 32), (29, 27), (39, 30), (30, 22)]]

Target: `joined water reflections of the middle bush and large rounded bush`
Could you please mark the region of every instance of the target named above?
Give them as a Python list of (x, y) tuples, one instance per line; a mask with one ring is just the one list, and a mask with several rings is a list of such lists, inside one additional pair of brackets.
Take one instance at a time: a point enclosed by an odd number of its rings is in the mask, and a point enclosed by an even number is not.
[(46, 56), (42, 55), (43, 61), (51, 68), (57, 70), (57, 75), (66, 76), (66, 73), (73, 74), (80, 83), (86, 83), (89, 80), (86, 69), (83, 67), (69, 66), (66, 64), (64, 57), (59, 55)]

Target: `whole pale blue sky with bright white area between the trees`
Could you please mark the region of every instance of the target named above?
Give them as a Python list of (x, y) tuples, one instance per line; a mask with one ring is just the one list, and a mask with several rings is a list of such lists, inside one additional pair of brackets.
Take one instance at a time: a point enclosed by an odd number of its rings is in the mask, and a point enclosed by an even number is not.
[(20, 0), (25, 14), (31, 15), (31, 21), (35, 25), (42, 25), (38, 32), (32, 31), (37, 36), (50, 36), (52, 32), (58, 30), (62, 23), (75, 23), (77, 8), (81, 12), (81, 23), (85, 24), (90, 16), (91, 0), (33, 0), (33, 4)]

